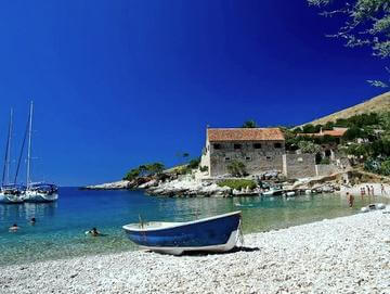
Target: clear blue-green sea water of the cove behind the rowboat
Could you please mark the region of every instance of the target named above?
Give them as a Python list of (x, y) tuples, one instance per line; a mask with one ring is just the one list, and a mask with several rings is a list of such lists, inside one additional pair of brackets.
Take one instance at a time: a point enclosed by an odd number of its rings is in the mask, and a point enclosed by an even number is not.
[[(136, 250), (121, 226), (143, 220), (184, 221), (242, 210), (244, 232), (286, 228), (324, 218), (347, 216), (373, 202), (355, 197), (353, 208), (344, 197), (332, 195), (235, 199), (169, 199), (140, 191), (80, 191), (61, 188), (52, 204), (0, 205), (0, 266)], [(376, 199), (376, 202), (389, 203)], [(29, 225), (37, 218), (35, 226)], [(21, 230), (10, 233), (16, 222)], [(96, 227), (105, 237), (86, 237)]]

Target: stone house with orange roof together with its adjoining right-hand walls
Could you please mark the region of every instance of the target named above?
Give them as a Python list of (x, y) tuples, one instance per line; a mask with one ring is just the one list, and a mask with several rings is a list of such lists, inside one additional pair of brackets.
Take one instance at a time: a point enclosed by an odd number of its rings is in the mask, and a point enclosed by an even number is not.
[(280, 128), (208, 128), (200, 166), (211, 178), (229, 175), (232, 161), (244, 163), (249, 175), (280, 171), (287, 178), (307, 178), (339, 170), (336, 164), (316, 165), (315, 156), (286, 153)]

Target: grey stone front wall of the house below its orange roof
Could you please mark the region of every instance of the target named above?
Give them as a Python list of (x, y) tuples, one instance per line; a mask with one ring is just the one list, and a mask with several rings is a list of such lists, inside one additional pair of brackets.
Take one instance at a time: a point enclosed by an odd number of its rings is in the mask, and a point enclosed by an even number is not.
[(283, 170), (284, 141), (211, 142), (208, 149), (211, 177), (229, 174), (227, 165), (232, 161), (244, 163), (247, 172), (251, 175)]

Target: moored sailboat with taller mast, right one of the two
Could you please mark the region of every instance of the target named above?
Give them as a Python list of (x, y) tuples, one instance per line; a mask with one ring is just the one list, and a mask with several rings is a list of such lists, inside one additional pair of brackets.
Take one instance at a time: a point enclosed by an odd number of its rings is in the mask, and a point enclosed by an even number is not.
[(31, 182), (31, 132), (32, 132), (34, 103), (31, 101), (28, 116), (28, 151), (27, 151), (27, 180), (25, 202), (54, 202), (58, 199), (58, 188), (53, 183)]

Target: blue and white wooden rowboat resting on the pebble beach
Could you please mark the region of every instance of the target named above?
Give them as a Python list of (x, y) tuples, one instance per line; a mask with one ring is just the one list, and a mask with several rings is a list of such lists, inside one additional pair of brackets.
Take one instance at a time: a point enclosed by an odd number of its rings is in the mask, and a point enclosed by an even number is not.
[(239, 237), (240, 212), (187, 222), (140, 222), (123, 226), (128, 238), (145, 250), (181, 255), (183, 252), (227, 252)]

